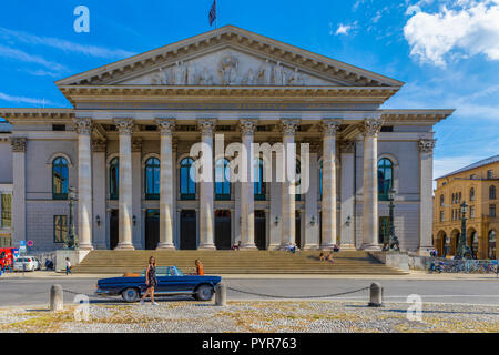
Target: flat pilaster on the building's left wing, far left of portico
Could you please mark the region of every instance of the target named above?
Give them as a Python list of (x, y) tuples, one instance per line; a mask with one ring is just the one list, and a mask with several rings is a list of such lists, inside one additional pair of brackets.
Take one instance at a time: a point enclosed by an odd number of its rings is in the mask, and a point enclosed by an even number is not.
[(12, 246), (26, 241), (26, 138), (12, 136)]

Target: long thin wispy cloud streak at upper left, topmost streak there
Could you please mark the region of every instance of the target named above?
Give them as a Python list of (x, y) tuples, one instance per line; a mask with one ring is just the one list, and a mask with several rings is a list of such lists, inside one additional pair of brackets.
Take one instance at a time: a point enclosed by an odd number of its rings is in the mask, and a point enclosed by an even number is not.
[(22, 43), (47, 45), (62, 50), (64, 52), (75, 52), (96, 58), (126, 58), (135, 54), (134, 52), (121, 49), (109, 49), (104, 47), (80, 44), (62, 40), (59, 38), (39, 37), (35, 34), (21, 31), (13, 31), (1, 27), (0, 27), (0, 36), (3, 37), (4, 39), (13, 39)]

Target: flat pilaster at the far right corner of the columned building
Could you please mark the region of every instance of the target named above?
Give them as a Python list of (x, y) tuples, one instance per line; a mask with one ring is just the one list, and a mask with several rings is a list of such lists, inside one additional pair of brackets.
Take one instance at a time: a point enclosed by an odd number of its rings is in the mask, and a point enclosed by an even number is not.
[(418, 254), (429, 255), (431, 243), (434, 203), (434, 148), (436, 140), (422, 139), (419, 141), (419, 248)]

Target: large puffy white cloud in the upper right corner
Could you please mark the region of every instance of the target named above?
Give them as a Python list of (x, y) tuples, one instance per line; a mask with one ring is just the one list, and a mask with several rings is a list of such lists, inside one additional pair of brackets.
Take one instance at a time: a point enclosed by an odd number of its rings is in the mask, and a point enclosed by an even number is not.
[(444, 6), (437, 13), (416, 11), (404, 27), (411, 57), (440, 67), (452, 55), (499, 60), (499, 0), (466, 0), (458, 6)]

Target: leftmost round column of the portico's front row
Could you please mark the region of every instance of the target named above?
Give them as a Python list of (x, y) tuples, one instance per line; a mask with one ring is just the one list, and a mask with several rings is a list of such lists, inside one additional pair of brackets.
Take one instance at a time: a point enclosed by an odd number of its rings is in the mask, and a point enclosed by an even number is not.
[(81, 250), (92, 250), (92, 120), (74, 119), (78, 133), (78, 239)]

